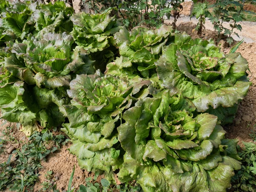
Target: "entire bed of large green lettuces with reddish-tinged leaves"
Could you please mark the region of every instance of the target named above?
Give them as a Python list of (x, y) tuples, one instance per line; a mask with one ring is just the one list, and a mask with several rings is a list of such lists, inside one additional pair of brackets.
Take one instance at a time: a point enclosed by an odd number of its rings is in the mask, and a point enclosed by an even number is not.
[[(241, 163), (221, 125), (233, 121), (251, 84), (240, 53), (224, 55), (212, 40), (171, 26), (128, 31), (113, 9), (1, 6), (1, 118), (20, 122), (26, 135), (62, 126), (79, 165), (112, 183), (117, 173), (146, 192), (230, 187)], [(23, 35), (9, 38), (15, 28)]]

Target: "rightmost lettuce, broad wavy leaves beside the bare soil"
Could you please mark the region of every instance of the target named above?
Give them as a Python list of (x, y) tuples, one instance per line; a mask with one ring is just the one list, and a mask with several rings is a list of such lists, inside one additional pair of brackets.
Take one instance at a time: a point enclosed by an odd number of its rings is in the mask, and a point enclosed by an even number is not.
[(250, 86), (248, 62), (240, 53), (224, 55), (211, 41), (175, 35), (155, 62), (164, 88), (191, 99), (198, 112), (210, 112), (223, 124), (233, 121), (237, 104)]

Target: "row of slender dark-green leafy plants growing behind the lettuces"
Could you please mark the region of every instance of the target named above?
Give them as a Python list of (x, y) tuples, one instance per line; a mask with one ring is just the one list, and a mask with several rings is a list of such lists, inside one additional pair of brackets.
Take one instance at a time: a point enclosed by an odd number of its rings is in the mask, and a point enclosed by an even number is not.
[[(198, 19), (196, 30), (198, 35), (202, 36), (202, 30), (206, 18), (212, 22), (215, 32), (218, 33), (217, 41), (220, 41), (222, 33), (226, 36), (229, 44), (233, 43), (231, 35), (239, 37), (235, 29), (241, 31), (239, 24), (242, 21), (242, 15), (247, 13), (255, 15), (253, 12), (244, 11), (244, 4), (247, 0), (216, 0), (215, 3), (209, 5), (204, 0), (193, 0), (195, 8), (191, 16)], [(249, 1), (250, 2), (250, 1)], [(183, 5), (184, 0), (133, 0), (126, 2), (124, 0), (82, 0), (81, 9), (89, 8), (90, 12), (100, 13), (110, 7), (116, 7), (116, 15), (122, 18), (126, 27), (132, 29), (135, 26), (146, 25), (150, 28), (159, 27), (164, 21), (173, 17), (172, 26), (176, 29), (177, 19), (180, 12), (186, 9)], [(229, 22), (230, 27), (225, 27), (224, 22)]]

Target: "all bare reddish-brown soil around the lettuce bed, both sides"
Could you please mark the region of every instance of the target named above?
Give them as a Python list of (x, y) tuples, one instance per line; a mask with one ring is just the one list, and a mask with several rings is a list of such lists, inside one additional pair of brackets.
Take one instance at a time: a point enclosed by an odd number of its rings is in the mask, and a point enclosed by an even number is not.
[[(182, 23), (177, 27), (180, 32), (187, 32), (192, 38), (199, 38), (193, 29), (195, 29), (195, 25), (192, 23)], [(203, 38), (216, 38), (216, 33), (212, 32), (208, 29), (203, 30)], [(227, 44), (225, 44), (227, 45)], [(224, 52), (229, 52), (230, 47), (223, 47)], [(251, 141), (249, 134), (252, 130), (254, 130), (254, 126), (256, 125), (256, 43), (243, 43), (237, 50), (237, 52), (241, 52), (242, 56), (247, 59), (249, 63), (250, 72), (249, 79), (253, 82), (248, 95), (244, 98), (244, 100), (239, 104), (238, 113), (233, 124), (225, 126), (225, 130), (227, 131), (227, 138), (239, 139), (239, 144), (242, 144), (243, 141)], [(19, 124), (9, 123), (5, 120), (0, 120), (0, 136), (4, 130), (8, 127), (13, 127), (9, 133), (15, 137), (15, 139), (26, 142), (27, 137), (25, 134), (19, 131), (17, 127)], [(9, 157), (9, 154), (6, 152), (11, 146), (15, 148), (20, 148), (21, 143), (8, 142), (5, 145), (6, 150), (3, 153), (0, 153), (0, 163), (6, 161)], [(73, 188), (78, 188), (80, 184), (85, 183), (85, 178), (93, 176), (93, 173), (86, 172), (85, 170), (80, 169), (78, 166), (76, 157), (69, 153), (68, 148), (70, 147), (70, 143), (61, 146), (54, 154), (50, 154), (45, 161), (42, 161), (42, 166), (44, 167), (39, 172), (39, 181), (35, 184), (34, 191), (38, 191), (42, 186), (41, 183), (45, 180), (45, 174), (47, 171), (52, 171), (55, 177), (57, 189), (60, 192), (67, 190), (68, 182), (70, 179), (71, 172), (75, 165), (75, 174), (73, 177)], [(102, 176), (98, 177), (97, 182), (100, 182)]]

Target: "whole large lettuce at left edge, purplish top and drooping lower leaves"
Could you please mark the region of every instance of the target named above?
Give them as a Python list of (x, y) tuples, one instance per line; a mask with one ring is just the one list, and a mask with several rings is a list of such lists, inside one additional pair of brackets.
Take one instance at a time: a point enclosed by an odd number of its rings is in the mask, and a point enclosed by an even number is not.
[(2, 68), (1, 118), (20, 122), (27, 135), (64, 122), (58, 108), (70, 101), (66, 92), (70, 81), (75, 74), (95, 71), (78, 49), (71, 52), (72, 44), (72, 36), (64, 32), (13, 45)]

